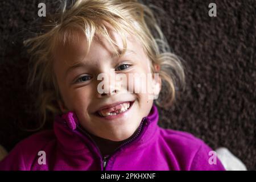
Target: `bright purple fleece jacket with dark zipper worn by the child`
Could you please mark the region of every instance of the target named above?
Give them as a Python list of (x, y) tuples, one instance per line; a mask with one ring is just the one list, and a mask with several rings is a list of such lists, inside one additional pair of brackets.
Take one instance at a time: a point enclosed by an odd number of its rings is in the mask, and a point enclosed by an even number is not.
[(202, 140), (157, 123), (153, 105), (137, 134), (114, 154), (102, 156), (75, 113), (57, 115), (53, 130), (16, 144), (0, 170), (225, 170)]

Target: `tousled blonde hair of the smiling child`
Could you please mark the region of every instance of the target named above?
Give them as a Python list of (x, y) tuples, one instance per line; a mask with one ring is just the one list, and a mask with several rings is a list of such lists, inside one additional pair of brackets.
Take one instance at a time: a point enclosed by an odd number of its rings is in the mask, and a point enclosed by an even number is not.
[[(167, 40), (160, 30), (151, 9), (136, 0), (77, 0), (68, 8), (67, 3), (53, 16), (48, 16), (42, 26), (44, 32), (24, 41), (28, 53), (31, 54), (32, 66), (28, 76), (28, 87), (36, 89), (38, 101), (36, 105), (42, 115), (42, 126), (47, 119), (47, 111), (60, 114), (57, 100), (63, 101), (53, 72), (52, 51), (57, 44), (65, 44), (72, 38), (72, 32), (81, 30), (88, 41), (88, 49), (94, 36), (104, 36), (113, 46), (117, 44), (110, 38), (108, 28), (103, 21), (110, 24), (121, 35), (125, 52), (126, 34), (135, 34), (142, 43), (143, 49), (154, 65), (160, 66), (159, 76), (162, 78), (160, 98), (156, 101), (161, 107), (174, 103), (176, 84), (179, 89), (185, 85), (184, 68), (179, 57), (170, 52)], [(120, 56), (119, 51), (115, 52)], [(161, 97), (162, 94), (162, 97)]]

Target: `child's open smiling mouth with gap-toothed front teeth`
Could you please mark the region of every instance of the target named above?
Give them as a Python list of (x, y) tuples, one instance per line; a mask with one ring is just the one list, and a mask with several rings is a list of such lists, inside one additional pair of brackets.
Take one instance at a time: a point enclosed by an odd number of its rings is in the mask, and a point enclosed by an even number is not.
[(129, 110), (130, 107), (133, 105), (133, 102), (131, 102), (131, 101), (123, 102), (122, 104), (99, 110), (96, 113), (100, 117), (108, 117), (110, 115), (118, 115), (118, 114), (124, 113), (125, 111)]

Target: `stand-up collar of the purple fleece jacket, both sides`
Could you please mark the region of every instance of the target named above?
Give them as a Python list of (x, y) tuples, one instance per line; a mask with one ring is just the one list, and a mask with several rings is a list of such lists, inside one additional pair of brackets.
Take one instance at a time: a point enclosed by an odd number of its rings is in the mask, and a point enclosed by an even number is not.
[[(150, 113), (147, 117), (142, 119), (142, 122), (144, 123), (141, 123), (143, 125), (139, 137), (133, 144), (144, 144), (153, 138), (157, 129), (158, 118), (158, 109), (153, 104)], [(83, 150), (86, 146), (89, 148), (93, 146), (92, 140), (85, 134), (79, 132), (79, 127), (79, 120), (73, 111), (56, 115), (53, 128), (61, 146), (71, 151)]]

